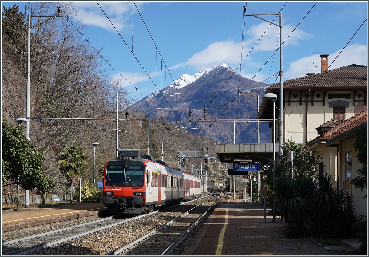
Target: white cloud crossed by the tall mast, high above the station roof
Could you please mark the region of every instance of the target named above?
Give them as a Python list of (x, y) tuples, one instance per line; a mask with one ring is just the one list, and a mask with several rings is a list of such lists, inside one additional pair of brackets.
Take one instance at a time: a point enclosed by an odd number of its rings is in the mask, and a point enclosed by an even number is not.
[[(279, 47), (279, 27), (271, 24), (268, 28), (269, 25), (270, 23), (263, 22), (249, 28), (249, 30), (246, 31), (246, 34), (249, 35), (249, 38), (246, 40), (245, 44), (251, 49), (261, 38), (253, 51), (275, 51), (276, 47)], [(310, 34), (299, 30), (298, 28), (296, 28), (294, 31), (293, 29), (294, 27), (291, 25), (283, 25), (282, 40), (286, 40), (286, 42), (283, 43), (284, 47), (287, 47), (288, 45), (297, 46), (299, 44), (299, 40), (304, 40), (307, 37), (311, 37)], [(291, 34), (292, 31), (293, 33)]]

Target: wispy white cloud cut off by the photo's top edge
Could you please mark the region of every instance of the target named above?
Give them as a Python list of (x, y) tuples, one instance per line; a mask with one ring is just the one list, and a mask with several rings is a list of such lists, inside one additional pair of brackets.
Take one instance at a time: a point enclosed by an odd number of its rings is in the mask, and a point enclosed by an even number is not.
[[(77, 2), (77, 18), (87, 25), (94, 25), (107, 31), (115, 32), (110, 21), (106, 18), (97, 3)], [(126, 26), (126, 21), (132, 19), (132, 3), (125, 2), (100, 2), (101, 8), (107, 14), (118, 31)], [(136, 3), (139, 8), (143, 3)], [(137, 13), (137, 10), (135, 10)]]

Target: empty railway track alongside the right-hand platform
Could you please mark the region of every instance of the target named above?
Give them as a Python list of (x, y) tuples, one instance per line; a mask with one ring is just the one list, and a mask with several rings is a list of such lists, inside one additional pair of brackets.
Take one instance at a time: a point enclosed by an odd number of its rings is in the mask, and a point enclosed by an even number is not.
[[(204, 217), (210, 215), (218, 201), (219, 199), (212, 202), (207, 201), (202, 203), (182, 215), (169, 220), (163, 225), (156, 227), (146, 234), (107, 253), (107, 255), (168, 255), (193, 232), (197, 225), (206, 220)], [(190, 240), (187, 240), (187, 243), (189, 241)]]

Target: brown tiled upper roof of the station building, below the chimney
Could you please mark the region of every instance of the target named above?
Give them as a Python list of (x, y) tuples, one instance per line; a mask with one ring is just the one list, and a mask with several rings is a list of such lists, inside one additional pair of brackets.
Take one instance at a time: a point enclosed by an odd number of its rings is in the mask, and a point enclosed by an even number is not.
[[(367, 86), (367, 67), (351, 64), (325, 73), (283, 81), (283, 88), (313, 86)], [(279, 83), (270, 86), (270, 88), (277, 87)]]

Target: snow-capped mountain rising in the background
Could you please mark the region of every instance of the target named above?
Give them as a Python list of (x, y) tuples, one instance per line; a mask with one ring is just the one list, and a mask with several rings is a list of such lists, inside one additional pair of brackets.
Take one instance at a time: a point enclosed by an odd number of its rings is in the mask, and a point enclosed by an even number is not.
[[(189, 109), (192, 110), (192, 119), (202, 119), (204, 107), (207, 108), (208, 119), (251, 118), (250, 116), (256, 116), (257, 102), (256, 97), (250, 94), (262, 96), (267, 86), (264, 83), (243, 78), (230, 66), (221, 64), (192, 76), (183, 74), (166, 88), (151, 93), (132, 107), (135, 112), (145, 112), (149, 119), (161, 116), (171, 122), (188, 120)], [(248, 96), (238, 96), (238, 92)], [(237, 100), (235, 100), (236, 97)], [(252, 100), (252, 97), (255, 99)], [(193, 123), (186, 125), (196, 126)], [(228, 128), (228, 125), (214, 123), (207, 130), (207, 134), (214, 140), (222, 142), (233, 134), (233, 124), (232, 128)]]

